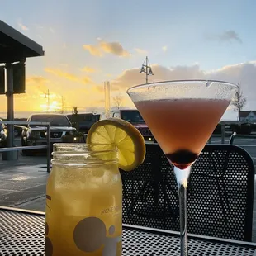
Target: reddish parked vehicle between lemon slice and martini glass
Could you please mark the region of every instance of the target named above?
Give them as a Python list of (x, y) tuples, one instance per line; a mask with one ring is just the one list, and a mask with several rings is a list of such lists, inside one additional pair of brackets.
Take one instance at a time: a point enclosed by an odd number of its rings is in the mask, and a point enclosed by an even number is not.
[[(144, 119), (140, 115), (140, 112), (136, 109), (119, 109), (110, 111), (109, 117), (116, 117), (125, 121), (129, 121), (133, 126), (135, 126), (136, 129), (140, 131), (145, 140), (155, 142), (154, 136), (149, 130), (149, 127), (146, 125)], [(102, 113), (100, 119), (106, 119), (106, 114)]]

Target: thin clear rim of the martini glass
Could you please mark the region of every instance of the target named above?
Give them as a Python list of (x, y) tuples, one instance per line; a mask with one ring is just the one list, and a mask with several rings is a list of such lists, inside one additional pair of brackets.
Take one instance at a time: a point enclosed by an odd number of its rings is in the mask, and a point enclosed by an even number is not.
[(129, 94), (129, 92), (135, 88), (146, 88), (149, 86), (155, 86), (155, 85), (164, 85), (164, 84), (170, 84), (172, 83), (222, 83), (223, 85), (228, 85), (231, 88), (238, 88), (238, 85), (235, 83), (230, 83), (226, 81), (221, 80), (211, 80), (211, 79), (185, 79), (185, 80), (166, 80), (166, 81), (159, 81), (159, 82), (153, 82), (153, 83), (141, 83), (135, 86), (132, 86), (127, 89), (126, 93)]

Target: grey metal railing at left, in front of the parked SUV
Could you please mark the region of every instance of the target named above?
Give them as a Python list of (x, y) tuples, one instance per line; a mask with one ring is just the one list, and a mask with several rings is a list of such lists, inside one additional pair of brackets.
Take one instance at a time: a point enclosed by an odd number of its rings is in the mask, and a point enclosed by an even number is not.
[(47, 149), (47, 173), (50, 173), (50, 122), (40, 122), (40, 121), (0, 121), (0, 124), (4, 124), (4, 125), (46, 126), (46, 141), (47, 141), (47, 145), (0, 148), (0, 153), (1, 152), (19, 151), (19, 150)]

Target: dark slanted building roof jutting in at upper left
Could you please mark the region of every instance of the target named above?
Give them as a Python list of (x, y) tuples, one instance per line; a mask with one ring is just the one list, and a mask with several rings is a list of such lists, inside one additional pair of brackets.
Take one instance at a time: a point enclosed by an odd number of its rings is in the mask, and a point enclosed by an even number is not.
[(0, 20), (0, 63), (43, 55), (45, 52), (41, 45)]

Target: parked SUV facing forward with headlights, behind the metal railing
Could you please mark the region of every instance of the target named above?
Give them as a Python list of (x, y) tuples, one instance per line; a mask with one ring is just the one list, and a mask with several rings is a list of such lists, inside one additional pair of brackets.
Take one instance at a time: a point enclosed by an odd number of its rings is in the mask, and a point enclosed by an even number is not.
[[(50, 122), (50, 143), (51, 147), (54, 143), (62, 142), (64, 135), (71, 135), (75, 132), (75, 128), (71, 126), (69, 118), (62, 114), (33, 114), (29, 116), (27, 121)], [(38, 125), (28, 125), (21, 133), (21, 145), (47, 145), (47, 127)], [(37, 150), (36, 150), (37, 151)], [(35, 154), (32, 150), (23, 150), (24, 154)]]

